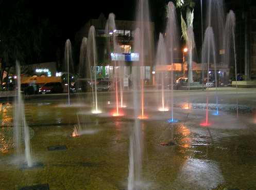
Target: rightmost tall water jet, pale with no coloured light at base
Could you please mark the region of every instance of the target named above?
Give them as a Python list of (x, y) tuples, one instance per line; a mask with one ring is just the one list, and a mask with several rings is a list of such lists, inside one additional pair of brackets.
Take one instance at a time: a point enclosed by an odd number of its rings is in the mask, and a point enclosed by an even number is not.
[(237, 65), (236, 65), (236, 50), (235, 50), (235, 14), (232, 10), (227, 15), (225, 25), (225, 63), (230, 67), (231, 63), (235, 66), (235, 87), (236, 87), (236, 117), (238, 117), (238, 89), (237, 89)]

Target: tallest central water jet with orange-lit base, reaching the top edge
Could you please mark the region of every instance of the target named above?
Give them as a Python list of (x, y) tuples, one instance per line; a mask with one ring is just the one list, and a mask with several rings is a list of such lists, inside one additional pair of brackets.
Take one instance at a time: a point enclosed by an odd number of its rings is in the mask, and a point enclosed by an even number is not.
[(152, 60), (152, 28), (150, 26), (149, 8), (147, 0), (139, 0), (136, 10), (136, 36), (134, 40), (134, 51), (140, 54), (140, 78), (141, 89), (141, 119), (145, 119), (144, 115), (144, 78), (145, 78), (145, 63)]

